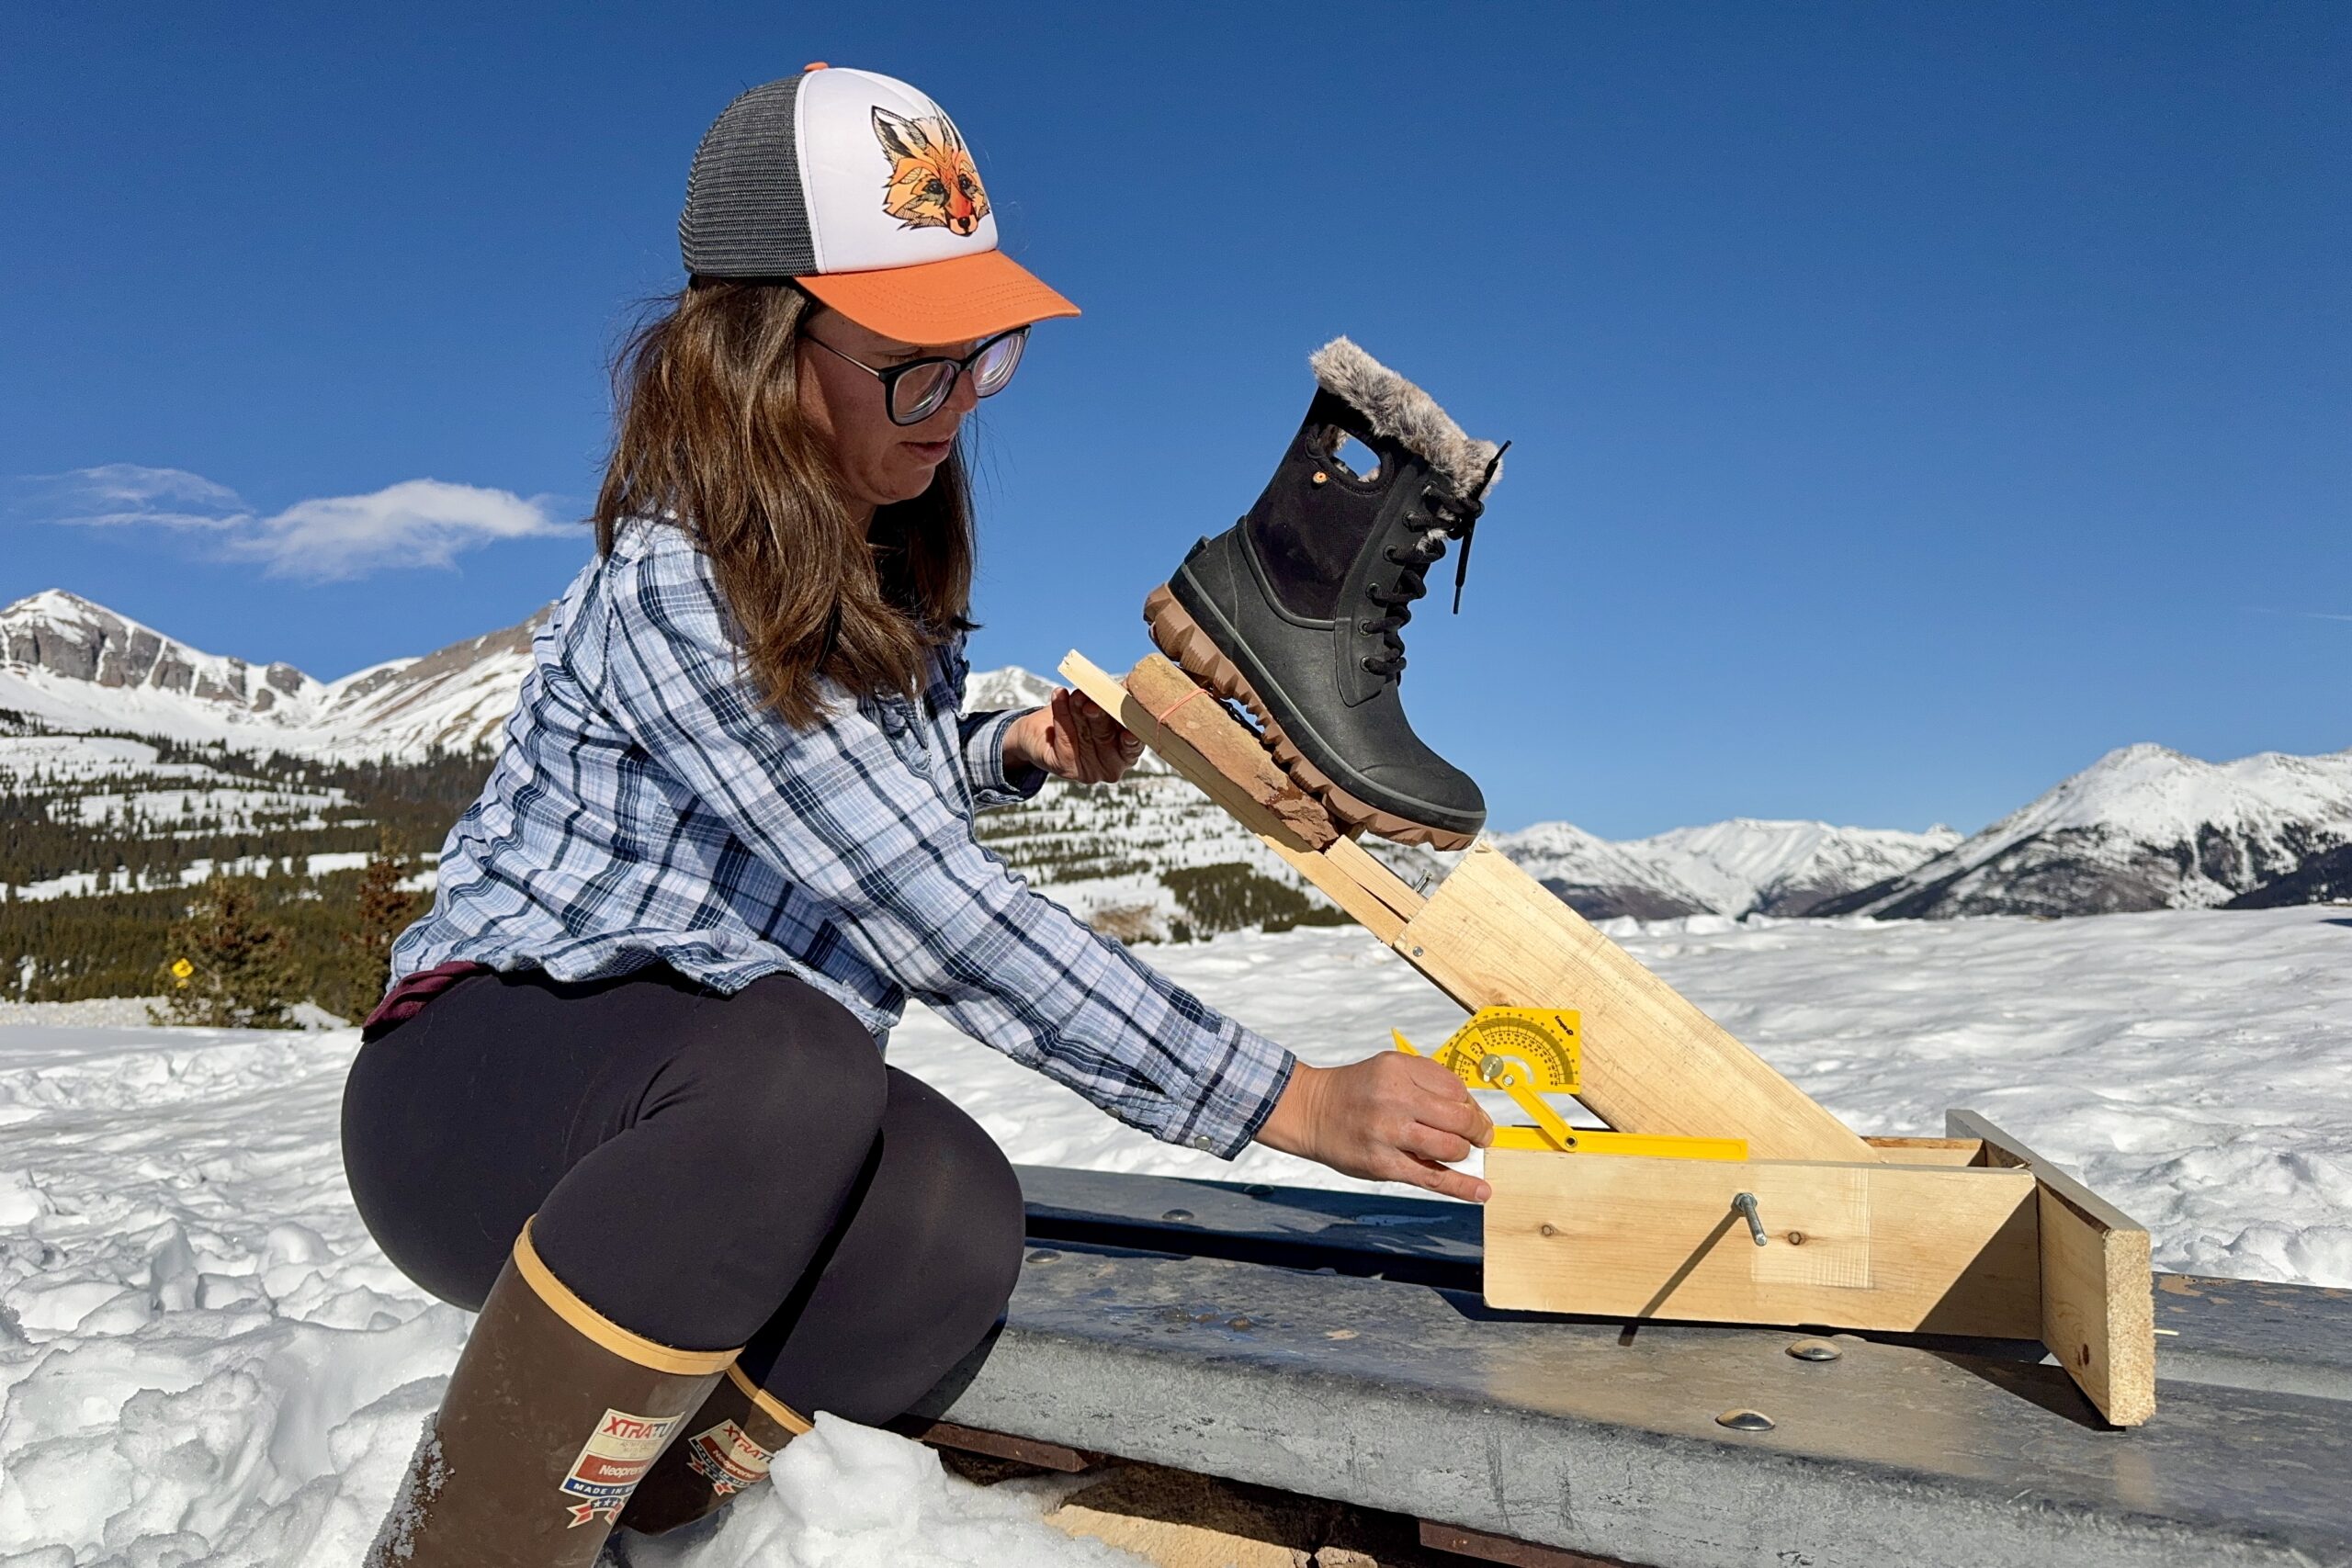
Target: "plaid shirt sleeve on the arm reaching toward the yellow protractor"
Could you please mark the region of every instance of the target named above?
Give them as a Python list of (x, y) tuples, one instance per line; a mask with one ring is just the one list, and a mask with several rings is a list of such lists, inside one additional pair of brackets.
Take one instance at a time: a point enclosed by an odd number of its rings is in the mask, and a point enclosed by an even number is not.
[(1249, 1145), (1291, 1053), (983, 851), (929, 778), (969, 766), (969, 738), (964, 759), (901, 752), (837, 691), (826, 722), (795, 731), (743, 679), (699, 552), (654, 548), (607, 571), (607, 710), (753, 853), (833, 905), (866, 961), (1129, 1126), (1225, 1159)]

